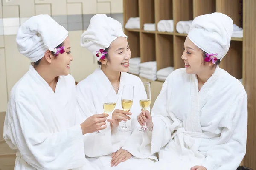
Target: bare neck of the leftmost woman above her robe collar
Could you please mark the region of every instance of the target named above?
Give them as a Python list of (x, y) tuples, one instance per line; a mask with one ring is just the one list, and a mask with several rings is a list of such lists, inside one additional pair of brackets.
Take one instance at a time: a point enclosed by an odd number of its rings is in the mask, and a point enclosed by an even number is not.
[(38, 74), (48, 83), (48, 85), (55, 91), (56, 84), (58, 82), (58, 76), (53, 75), (50, 69), (47, 69), (46, 65), (35, 65), (35, 70)]

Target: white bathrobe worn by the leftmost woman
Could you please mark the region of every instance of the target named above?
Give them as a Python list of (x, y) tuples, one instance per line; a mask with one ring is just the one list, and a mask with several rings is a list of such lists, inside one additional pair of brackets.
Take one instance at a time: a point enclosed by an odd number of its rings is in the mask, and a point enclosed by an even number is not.
[(81, 126), (75, 125), (76, 88), (60, 76), (55, 93), (32, 65), (12, 88), (3, 137), (17, 150), (15, 170), (93, 169), (85, 158)]

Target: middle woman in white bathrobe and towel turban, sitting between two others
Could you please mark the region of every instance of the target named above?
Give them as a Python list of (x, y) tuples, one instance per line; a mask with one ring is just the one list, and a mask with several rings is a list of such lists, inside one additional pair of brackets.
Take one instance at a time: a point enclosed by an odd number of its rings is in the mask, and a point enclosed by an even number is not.
[[(91, 18), (87, 31), (81, 36), (81, 46), (97, 57), (101, 68), (96, 69), (76, 86), (80, 112), (87, 117), (95, 113), (103, 113), (103, 104), (108, 91), (111, 87), (119, 88), (119, 91), (113, 92), (116, 94), (114, 97), (119, 96), (119, 99), (116, 110), (109, 115), (108, 127), (103, 131), (105, 135), (91, 133), (85, 136), (84, 149), (88, 160), (105, 170), (130, 170), (139, 166), (144, 167), (143, 164), (153, 163), (150, 159), (131, 158), (129, 149), (123, 149), (131, 133), (138, 131), (140, 127), (137, 122), (137, 116), (141, 112), (139, 100), (145, 91), (139, 90), (141, 83), (139, 77), (126, 73), (129, 70), (131, 51), (121, 23), (105, 14), (96, 14)], [(134, 86), (134, 102), (130, 112), (122, 111), (121, 107), (121, 92), (126, 84)], [(87, 108), (91, 111), (90, 114)], [(127, 120), (126, 124), (131, 126), (131, 131), (118, 130), (118, 126), (123, 124), (121, 120)]]

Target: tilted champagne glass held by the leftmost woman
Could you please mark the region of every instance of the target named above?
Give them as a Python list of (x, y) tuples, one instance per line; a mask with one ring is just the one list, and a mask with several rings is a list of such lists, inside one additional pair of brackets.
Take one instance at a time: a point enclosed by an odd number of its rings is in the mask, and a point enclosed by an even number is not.
[[(119, 90), (119, 88), (111, 86), (110, 90), (108, 91), (108, 95), (106, 96), (106, 98), (104, 100), (104, 104), (103, 104), (104, 113), (103, 114), (109, 114), (115, 109), (116, 102), (118, 99), (118, 95), (116, 94), (116, 91), (118, 92), (118, 90)], [(94, 133), (101, 135), (101, 136), (105, 135), (105, 133), (100, 132), (100, 131), (96, 131)]]

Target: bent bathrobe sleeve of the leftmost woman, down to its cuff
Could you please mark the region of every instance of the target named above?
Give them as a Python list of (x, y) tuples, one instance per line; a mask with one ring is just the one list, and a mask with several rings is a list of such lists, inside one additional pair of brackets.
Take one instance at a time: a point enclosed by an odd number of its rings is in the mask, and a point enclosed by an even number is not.
[(38, 170), (82, 167), (87, 160), (81, 126), (58, 132), (47, 127), (32, 101), (10, 99), (3, 135), (9, 147), (18, 149), (23, 159)]

